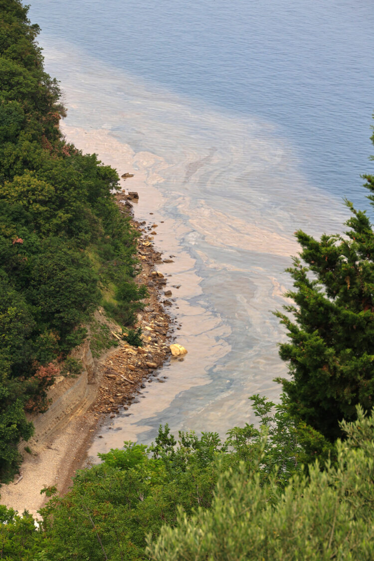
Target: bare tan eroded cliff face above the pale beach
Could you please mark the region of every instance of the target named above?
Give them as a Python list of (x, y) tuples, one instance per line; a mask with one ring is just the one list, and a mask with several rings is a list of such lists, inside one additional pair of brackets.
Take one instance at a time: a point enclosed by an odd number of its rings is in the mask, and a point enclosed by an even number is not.
[(94, 403), (96, 397), (96, 367), (88, 339), (76, 348), (72, 356), (82, 363), (82, 373), (76, 378), (57, 376), (48, 390), (50, 405), (45, 413), (28, 415), (33, 421), (35, 433), (29, 442), (20, 442), (19, 450), (29, 445), (37, 451), (52, 436), (61, 430), (73, 416), (83, 415)]

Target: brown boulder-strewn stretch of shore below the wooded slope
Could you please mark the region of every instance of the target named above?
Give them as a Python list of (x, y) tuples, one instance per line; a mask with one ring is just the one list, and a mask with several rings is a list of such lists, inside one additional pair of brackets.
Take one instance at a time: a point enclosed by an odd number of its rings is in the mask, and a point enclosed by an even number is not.
[[(129, 199), (133, 194), (116, 195), (117, 204), (124, 213), (128, 213)], [(176, 323), (170, 318), (165, 307), (172, 305), (172, 291), (167, 288), (167, 278), (155, 270), (155, 265), (170, 263), (171, 258), (162, 259), (160, 252), (153, 246), (157, 224), (146, 226), (132, 219), (133, 226), (141, 233), (138, 240), (137, 255), (140, 263), (136, 266), (136, 282), (145, 284), (149, 292), (147, 305), (137, 316), (136, 328), (140, 328), (142, 346), (137, 348), (122, 339), (122, 333), (113, 332), (118, 337), (119, 346), (109, 353), (101, 365), (101, 384), (98, 398), (93, 406), (99, 414), (115, 415), (120, 409), (127, 410), (133, 399), (141, 393), (146, 383), (153, 381), (163, 383), (167, 376), (162, 376), (161, 366), (171, 355), (170, 339), (172, 327)], [(147, 230), (150, 233), (147, 233)]]

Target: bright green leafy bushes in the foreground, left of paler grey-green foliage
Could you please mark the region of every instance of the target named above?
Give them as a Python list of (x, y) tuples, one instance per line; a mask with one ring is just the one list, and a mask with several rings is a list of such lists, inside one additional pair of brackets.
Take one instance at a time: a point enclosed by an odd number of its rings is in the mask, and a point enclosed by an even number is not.
[(24, 518), (29, 533), (23, 546), (13, 533), (19, 517), (4, 511), (10, 522), (0, 525), (2, 554), (9, 559), (145, 559), (146, 536), (157, 537), (165, 523), (176, 525), (181, 506), (188, 514), (209, 509), (227, 470), (244, 470), (248, 477), (256, 472), (260, 486), (271, 481), (284, 489), (302, 469), (298, 431), (282, 406), (258, 396), (252, 401), (260, 429), (235, 427), (225, 442), (216, 433), (200, 438), (179, 433), (176, 443), (165, 426), (149, 448), (125, 443), (122, 450), (101, 454), (103, 463), (80, 471), (70, 493), (41, 509), (40, 530)]

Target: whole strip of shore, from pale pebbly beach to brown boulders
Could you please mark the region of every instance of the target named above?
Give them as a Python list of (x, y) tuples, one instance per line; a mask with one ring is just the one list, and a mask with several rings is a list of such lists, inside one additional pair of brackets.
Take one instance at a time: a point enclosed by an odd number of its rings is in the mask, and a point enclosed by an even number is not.
[[(164, 383), (167, 378), (161, 376), (162, 367), (171, 354), (169, 344), (176, 320), (167, 311), (167, 307), (172, 306), (167, 295), (161, 303), (163, 292), (167, 292), (167, 279), (155, 269), (155, 265), (164, 262), (153, 245), (158, 225), (139, 223), (133, 217), (131, 204), (125, 202), (128, 196), (124, 190), (115, 197), (119, 210), (130, 214), (132, 226), (140, 233), (136, 254), (141, 265), (135, 281), (146, 284), (149, 296), (144, 310), (138, 312), (135, 328), (142, 329), (143, 346), (136, 348), (118, 341), (117, 347), (101, 353), (95, 361), (92, 382), (96, 392), (94, 403), (87, 410), (83, 408), (73, 413), (62, 428), (52, 430), (38, 451), (24, 452), (20, 477), (0, 487), (0, 504), (19, 513), (26, 509), (36, 518), (39, 518), (37, 511), (48, 502), (40, 489), (56, 486), (59, 494), (66, 494), (76, 471), (90, 465), (87, 452), (103, 421), (109, 415), (114, 418), (120, 410), (127, 411), (146, 387), (145, 383)], [(97, 314), (101, 314), (100, 309), (95, 312)], [(119, 339), (114, 329), (112, 334)]]

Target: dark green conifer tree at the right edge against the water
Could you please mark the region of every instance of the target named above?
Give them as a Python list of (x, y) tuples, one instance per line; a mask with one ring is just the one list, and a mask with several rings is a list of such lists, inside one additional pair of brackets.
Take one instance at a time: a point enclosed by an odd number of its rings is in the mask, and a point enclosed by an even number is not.
[[(374, 176), (363, 177), (374, 192)], [(357, 404), (372, 408), (374, 395), (374, 231), (366, 212), (345, 202), (345, 235), (296, 232), (301, 258), (287, 269), (295, 305), (276, 312), (289, 337), (280, 357), (290, 379), (278, 380), (289, 412), (330, 440), (340, 436), (339, 421), (355, 419)]]

